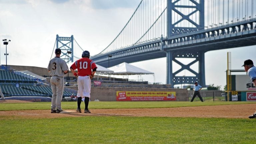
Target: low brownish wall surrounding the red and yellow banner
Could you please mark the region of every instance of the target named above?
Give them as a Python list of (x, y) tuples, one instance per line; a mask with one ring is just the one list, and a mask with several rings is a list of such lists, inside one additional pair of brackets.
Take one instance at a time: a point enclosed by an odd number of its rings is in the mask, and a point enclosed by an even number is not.
[[(66, 87), (78, 90), (77, 87)], [(100, 101), (116, 101), (116, 91), (174, 91), (176, 92), (176, 101), (188, 101), (187, 89), (173, 88), (119, 88), (119, 87), (92, 87), (91, 101), (99, 99)]]

